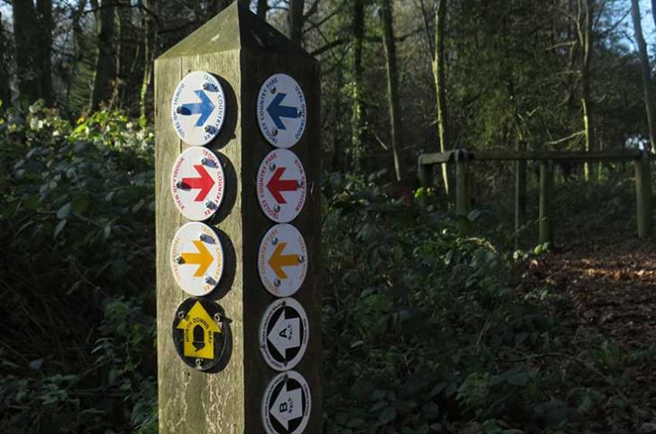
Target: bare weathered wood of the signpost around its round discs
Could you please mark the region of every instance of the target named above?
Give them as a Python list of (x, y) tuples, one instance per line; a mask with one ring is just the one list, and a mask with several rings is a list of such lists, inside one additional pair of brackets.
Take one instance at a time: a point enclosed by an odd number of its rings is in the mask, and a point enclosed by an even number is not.
[[(176, 284), (169, 265), (171, 240), (185, 222), (171, 195), (170, 174), (179, 153), (187, 148), (171, 122), (171, 100), (179, 80), (195, 70), (218, 77), (225, 93), (223, 128), (207, 145), (219, 155), (225, 172), (223, 203), (214, 218), (205, 222), (214, 227), (223, 243), (225, 269), (218, 287), (203, 298), (221, 306), (230, 331), (229, 352), (216, 372), (200, 372), (185, 365), (176, 353), (171, 334), (178, 304), (189, 297)], [(295, 78), (305, 93), (305, 132), (289, 150), (305, 167), (305, 205), (291, 224), (305, 239), (307, 257), (298, 260), (306, 262), (307, 274), (291, 296), (305, 308), (309, 339), (305, 356), (293, 369), (305, 377), (311, 392), (311, 411), (304, 432), (322, 432), (319, 65), (241, 2), (235, 2), (155, 62), (157, 343), (162, 433), (265, 432), (263, 395), (269, 381), (279, 373), (260, 354), (259, 328), (263, 313), (278, 299), (260, 282), (258, 261), (260, 242), (276, 223), (260, 209), (256, 181), (260, 163), (275, 148), (260, 133), (257, 103), (260, 86), (277, 73)]]

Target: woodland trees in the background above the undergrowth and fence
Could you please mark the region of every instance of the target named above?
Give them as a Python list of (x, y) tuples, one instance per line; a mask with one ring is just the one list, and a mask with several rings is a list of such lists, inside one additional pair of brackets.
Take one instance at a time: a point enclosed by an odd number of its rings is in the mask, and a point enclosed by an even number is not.
[[(0, 95), (41, 98), (70, 119), (107, 107), (149, 122), (153, 59), (231, 3), (4, 0)], [(242, 4), (321, 59), (326, 169), (387, 169), (412, 183), (424, 151), (650, 141), (648, 2)]]

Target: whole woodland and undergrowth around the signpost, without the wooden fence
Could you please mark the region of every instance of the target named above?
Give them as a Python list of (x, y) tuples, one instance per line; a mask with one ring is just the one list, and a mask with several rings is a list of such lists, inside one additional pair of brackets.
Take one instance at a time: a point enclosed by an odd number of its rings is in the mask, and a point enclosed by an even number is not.
[[(153, 59), (228, 3), (0, 0), (3, 432), (157, 430)], [(559, 274), (583, 259), (532, 243), (534, 201), (515, 249), (511, 164), (477, 167), (467, 218), (415, 167), (651, 152), (653, 3), (244, 2), (322, 65), (327, 432), (656, 432), (656, 321), (617, 313), (656, 309), (633, 167), (557, 167), (558, 242), (640, 290), (603, 308), (589, 261)]]

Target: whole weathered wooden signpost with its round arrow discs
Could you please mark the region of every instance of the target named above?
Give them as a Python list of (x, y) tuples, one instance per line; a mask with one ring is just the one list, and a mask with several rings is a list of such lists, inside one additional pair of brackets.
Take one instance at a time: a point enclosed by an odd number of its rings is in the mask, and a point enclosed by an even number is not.
[(318, 63), (235, 3), (155, 88), (160, 432), (320, 433)]

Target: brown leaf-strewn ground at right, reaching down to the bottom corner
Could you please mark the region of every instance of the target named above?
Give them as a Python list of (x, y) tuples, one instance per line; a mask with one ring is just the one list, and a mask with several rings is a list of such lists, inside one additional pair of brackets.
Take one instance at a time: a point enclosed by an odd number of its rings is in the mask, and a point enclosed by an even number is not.
[(563, 351), (579, 354), (601, 343), (606, 354), (589, 370), (624, 392), (633, 406), (626, 416), (639, 432), (656, 432), (656, 242), (604, 232), (561, 240), (560, 248), (531, 261), (528, 276), (569, 299), (553, 312), (571, 332)]

